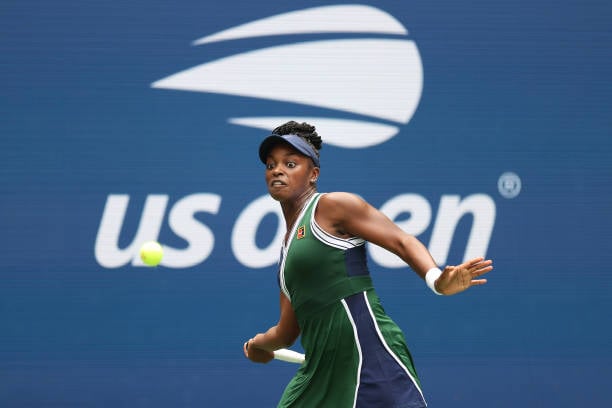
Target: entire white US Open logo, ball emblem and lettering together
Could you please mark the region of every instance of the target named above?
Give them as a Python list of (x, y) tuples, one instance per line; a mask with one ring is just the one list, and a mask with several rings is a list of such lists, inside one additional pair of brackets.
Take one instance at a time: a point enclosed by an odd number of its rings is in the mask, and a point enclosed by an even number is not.
[[(316, 123), (326, 143), (344, 148), (374, 146), (399, 133), (399, 126), (410, 121), (421, 98), (423, 69), (416, 45), (406, 39), (406, 29), (379, 9), (338, 5), (297, 10), (203, 37), (194, 41), (194, 45), (313, 33), (351, 37), (253, 49), (178, 72), (151, 86), (295, 103), (296, 113), (291, 117), (271, 114), (230, 117), (228, 121), (265, 131), (288, 120)], [(365, 38), (368, 34), (374, 38)], [(299, 104), (323, 108), (326, 114), (300, 116)], [(520, 191), (520, 180), (517, 184), (500, 179), (500, 192), (502, 187), (507, 195)], [(101, 266), (118, 268), (130, 263), (143, 266), (138, 248), (145, 241), (158, 240), (166, 217), (170, 230), (187, 245), (184, 248), (164, 245), (161, 265), (189, 268), (209, 258), (217, 237), (196, 214), (218, 215), (221, 195), (191, 194), (180, 197), (172, 206), (167, 195), (148, 195), (134, 238), (120, 248), (119, 237), (130, 199), (128, 194), (107, 197), (95, 243), (95, 257)], [(432, 226), (428, 248), (439, 265), (446, 263), (459, 221), (471, 215), (473, 222), (464, 260), (486, 253), (496, 217), (491, 197), (442, 195), (437, 214), (434, 208), (421, 195), (402, 193), (390, 197), (380, 210), (415, 236)], [(278, 217), (278, 228), (275, 236), (261, 247), (255, 237), (262, 221), (271, 213)], [(411, 214), (410, 218), (405, 219), (405, 214)], [(230, 247), (235, 259), (245, 267), (262, 268), (277, 262), (283, 235), (280, 207), (266, 194), (247, 203), (241, 211), (232, 228)], [(380, 266), (405, 267), (397, 256), (382, 248), (370, 245), (369, 252)]]

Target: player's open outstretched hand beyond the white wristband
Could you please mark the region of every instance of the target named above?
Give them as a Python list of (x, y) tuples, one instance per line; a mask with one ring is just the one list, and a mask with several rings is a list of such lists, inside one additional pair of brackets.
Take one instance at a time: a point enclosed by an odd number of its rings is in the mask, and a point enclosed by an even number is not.
[(486, 279), (478, 279), (493, 270), (493, 261), (484, 258), (474, 258), (457, 266), (447, 266), (436, 280), (436, 290), (443, 295), (454, 295), (464, 290), (487, 283)]

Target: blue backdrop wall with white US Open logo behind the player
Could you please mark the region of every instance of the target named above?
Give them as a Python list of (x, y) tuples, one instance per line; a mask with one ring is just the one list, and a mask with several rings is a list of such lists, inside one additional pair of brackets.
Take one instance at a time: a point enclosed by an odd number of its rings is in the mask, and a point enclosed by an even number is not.
[(431, 406), (610, 404), (611, 19), (595, 0), (5, 1), (0, 405), (274, 406), (296, 366), (241, 348), (278, 316), (256, 149), (288, 119), (324, 139), (321, 191), (440, 264), (495, 261), (442, 298), (369, 248)]

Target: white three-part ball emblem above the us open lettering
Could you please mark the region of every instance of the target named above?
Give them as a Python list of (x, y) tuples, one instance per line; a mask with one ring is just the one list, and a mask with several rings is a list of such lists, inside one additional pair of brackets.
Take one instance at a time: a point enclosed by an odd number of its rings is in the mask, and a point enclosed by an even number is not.
[[(270, 130), (288, 120), (317, 124), (325, 142), (363, 148), (387, 141), (412, 118), (421, 99), (423, 67), (406, 28), (365, 5), (296, 10), (200, 38), (194, 45), (272, 35), (345, 33), (397, 38), (346, 38), (254, 49), (160, 79), (153, 88), (292, 102), (358, 115), (232, 117), (233, 124)], [(347, 136), (350, 135), (350, 136)]]

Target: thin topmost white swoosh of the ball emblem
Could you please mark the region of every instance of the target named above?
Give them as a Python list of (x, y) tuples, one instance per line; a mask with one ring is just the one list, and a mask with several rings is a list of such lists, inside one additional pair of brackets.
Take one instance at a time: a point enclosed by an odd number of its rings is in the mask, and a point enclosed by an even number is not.
[(308, 33), (379, 33), (408, 32), (390, 14), (365, 5), (336, 5), (291, 11), (263, 18), (202, 37), (193, 45), (239, 38)]

